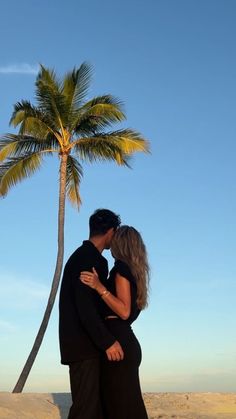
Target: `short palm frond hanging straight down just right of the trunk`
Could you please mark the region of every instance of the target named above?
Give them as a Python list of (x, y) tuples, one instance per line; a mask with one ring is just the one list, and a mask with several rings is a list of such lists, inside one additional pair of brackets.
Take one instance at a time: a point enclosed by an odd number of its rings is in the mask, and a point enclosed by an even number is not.
[(69, 155), (66, 167), (66, 194), (71, 204), (78, 208), (81, 204), (79, 184), (82, 176), (83, 170), (78, 160)]

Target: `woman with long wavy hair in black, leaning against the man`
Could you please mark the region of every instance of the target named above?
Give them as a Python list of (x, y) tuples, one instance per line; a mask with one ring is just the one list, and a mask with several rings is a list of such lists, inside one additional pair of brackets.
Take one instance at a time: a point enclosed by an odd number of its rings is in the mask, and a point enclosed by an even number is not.
[(95, 270), (82, 272), (81, 281), (103, 300), (107, 327), (120, 342), (124, 360), (108, 361), (101, 370), (102, 402), (106, 419), (147, 419), (139, 382), (141, 348), (131, 324), (147, 306), (149, 267), (142, 237), (133, 227), (122, 226), (114, 234), (111, 253), (115, 264), (106, 287)]

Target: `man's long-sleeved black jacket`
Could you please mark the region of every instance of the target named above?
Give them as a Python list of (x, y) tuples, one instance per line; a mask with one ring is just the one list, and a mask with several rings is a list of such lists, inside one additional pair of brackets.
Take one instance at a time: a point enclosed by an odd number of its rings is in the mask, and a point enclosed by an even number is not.
[(59, 341), (62, 364), (99, 356), (114, 342), (99, 313), (100, 297), (83, 284), (81, 271), (95, 268), (104, 282), (107, 260), (89, 240), (85, 240), (69, 258), (62, 278), (59, 298)]

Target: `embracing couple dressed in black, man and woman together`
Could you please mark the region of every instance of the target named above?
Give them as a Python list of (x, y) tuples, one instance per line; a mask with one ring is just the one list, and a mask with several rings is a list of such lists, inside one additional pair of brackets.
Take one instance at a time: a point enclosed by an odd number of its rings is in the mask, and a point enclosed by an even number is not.
[[(114, 267), (108, 276), (104, 249)], [(59, 301), (62, 364), (69, 365), (68, 419), (147, 419), (139, 382), (141, 348), (131, 324), (147, 305), (149, 268), (139, 232), (99, 209), (89, 240), (66, 263)]]

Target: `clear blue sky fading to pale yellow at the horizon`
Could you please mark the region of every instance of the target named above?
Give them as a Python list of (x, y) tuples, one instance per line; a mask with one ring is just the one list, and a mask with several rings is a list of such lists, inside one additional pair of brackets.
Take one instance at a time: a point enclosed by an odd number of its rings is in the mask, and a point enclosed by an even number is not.
[[(65, 260), (108, 207), (143, 234), (150, 305), (134, 325), (144, 391), (235, 391), (236, 3), (234, 0), (1, 2), (0, 131), (34, 101), (38, 63), (94, 66), (90, 96), (125, 102), (150, 140), (132, 170), (84, 165), (80, 212), (67, 205)], [(0, 202), (1, 390), (38, 330), (56, 257), (58, 160)], [(109, 253), (105, 254), (112, 259)], [(26, 391), (68, 391), (57, 304)]]

